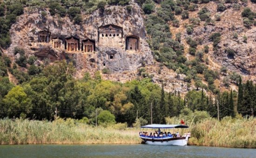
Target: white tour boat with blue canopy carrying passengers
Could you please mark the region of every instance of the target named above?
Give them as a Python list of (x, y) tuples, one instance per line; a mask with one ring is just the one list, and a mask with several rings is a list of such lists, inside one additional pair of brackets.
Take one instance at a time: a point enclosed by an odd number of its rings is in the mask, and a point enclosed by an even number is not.
[[(161, 124), (152, 124), (141, 126), (141, 128), (153, 128), (153, 129), (172, 129), (172, 128), (189, 128), (187, 125), (161, 125)], [(173, 135), (167, 135), (162, 137), (155, 136), (146, 136), (140, 132), (140, 138), (149, 145), (187, 145), (190, 137), (190, 133), (185, 133), (184, 136), (174, 137)]]

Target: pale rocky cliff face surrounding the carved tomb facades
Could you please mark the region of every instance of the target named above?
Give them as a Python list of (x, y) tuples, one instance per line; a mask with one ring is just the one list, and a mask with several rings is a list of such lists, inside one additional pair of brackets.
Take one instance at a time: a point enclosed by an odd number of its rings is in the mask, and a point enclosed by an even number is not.
[[(39, 59), (45, 58), (52, 61), (65, 59), (65, 56), (73, 56), (76, 60), (76, 66), (79, 69), (101, 70), (108, 68), (112, 72), (122, 72), (125, 70), (136, 70), (142, 64), (150, 65), (153, 63), (153, 56), (146, 42), (146, 31), (141, 15), (141, 8), (132, 3), (132, 10), (127, 11), (126, 7), (110, 6), (105, 11), (94, 11), (90, 15), (82, 15), (81, 25), (74, 25), (69, 18), (59, 18), (47, 13), (42, 16), (42, 11), (25, 9), (25, 13), (19, 17), (12, 26), (10, 33), (12, 44), (7, 49), (7, 53), (12, 56), (16, 46), (25, 49), (27, 56), (34, 54)], [(100, 45), (99, 27), (101, 26), (119, 26), (122, 29), (122, 37), (119, 46), (112, 43), (109, 45)], [(52, 40), (48, 43), (38, 42), (38, 32), (46, 30), (51, 33), (51, 39), (59, 38), (62, 40), (62, 46), (54, 49)], [(95, 51), (84, 53), (81, 49), (75, 52), (67, 52), (65, 49), (65, 39), (67, 37), (77, 37), (80, 41), (90, 39), (95, 41)], [(113, 35), (112, 35), (113, 36)], [(121, 35), (120, 35), (121, 36)], [(126, 39), (129, 36), (138, 38), (138, 50), (126, 50)], [(114, 38), (114, 37), (113, 37)], [(114, 41), (115, 42), (115, 41)], [(109, 53), (114, 54), (115, 58), (110, 59)]]

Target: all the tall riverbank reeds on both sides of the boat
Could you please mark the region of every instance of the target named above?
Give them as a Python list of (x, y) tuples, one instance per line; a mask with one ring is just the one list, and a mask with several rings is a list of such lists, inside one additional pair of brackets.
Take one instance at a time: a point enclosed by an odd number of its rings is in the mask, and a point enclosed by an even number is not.
[[(180, 120), (175, 119), (172, 122)], [(226, 117), (221, 121), (206, 118), (187, 123), (190, 127), (183, 132), (192, 134), (189, 145), (256, 148), (256, 118)], [(139, 144), (139, 130), (126, 128), (123, 124), (93, 127), (63, 120), (1, 119), (0, 144)], [(173, 133), (173, 129), (170, 132)]]

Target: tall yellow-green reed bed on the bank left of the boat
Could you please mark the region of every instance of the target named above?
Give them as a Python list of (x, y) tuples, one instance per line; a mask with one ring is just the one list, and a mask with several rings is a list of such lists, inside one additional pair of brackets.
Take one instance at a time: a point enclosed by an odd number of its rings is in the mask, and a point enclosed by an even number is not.
[(135, 144), (135, 129), (92, 127), (70, 122), (0, 120), (0, 144)]

